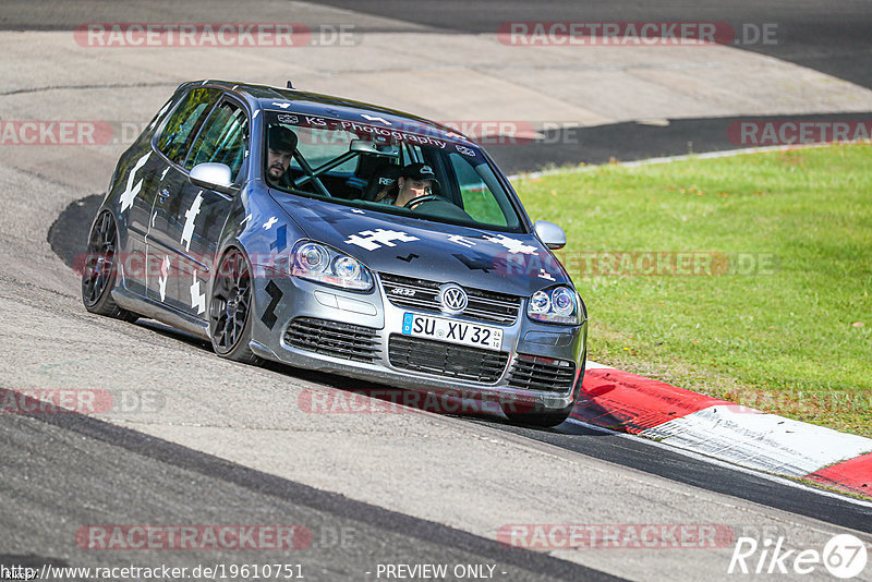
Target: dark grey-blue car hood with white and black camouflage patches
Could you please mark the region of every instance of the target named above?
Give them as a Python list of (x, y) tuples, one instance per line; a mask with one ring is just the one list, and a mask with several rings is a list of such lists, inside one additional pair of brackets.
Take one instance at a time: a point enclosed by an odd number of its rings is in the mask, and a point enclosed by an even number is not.
[(512, 295), (570, 282), (534, 234), (501, 233), (351, 208), (270, 190), (307, 238), (370, 269)]

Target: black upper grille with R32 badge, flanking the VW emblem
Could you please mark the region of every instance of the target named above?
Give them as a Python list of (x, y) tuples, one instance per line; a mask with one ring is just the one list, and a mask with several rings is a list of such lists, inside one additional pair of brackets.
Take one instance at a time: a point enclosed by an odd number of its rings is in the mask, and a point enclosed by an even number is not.
[[(393, 305), (413, 310), (441, 313), (439, 310), (439, 284), (436, 281), (412, 279), (398, 275), (380, 274), (385, 294)], [(463, 288), (469, 305), (463, 315), (472, 319), (511, 325), (518, 319), (521, 299), (514, 295)]]

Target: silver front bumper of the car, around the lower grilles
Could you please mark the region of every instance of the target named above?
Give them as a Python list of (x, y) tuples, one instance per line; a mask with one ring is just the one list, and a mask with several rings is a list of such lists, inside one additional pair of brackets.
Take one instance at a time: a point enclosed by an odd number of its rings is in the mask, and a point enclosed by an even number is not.
[[(540, 324), (525, 316), (526, 304), (523, 301), (518, 317), (510, 325), (401, 307), (388, 300), (380, 279), (376, 279), (374, 289), (368, 293), (331, 289), (291, 277), (257, 280), (257, 317), (254, 322), (252, 350), (265, 359), (295, 367), (331, 372), (389, 387), (424, 389), (461, 398), (496, 401), (505, 405), (519, 404), (520, 409), (535, 408), (538, 411), (560, 410), (572, 404), (576, 387), (583, 374), (586, 322), (578, 326)], [(410, 369), (408, 365), (398, 363), (398, 337), (400, 341), (407, 340), (403, 344), (411, 343), (412, 349), (446, 349), (445, 342), (433, 345), (413, 338), (409, 341), (409, 336), (401, 332), (403, 315), (409, 312), (501, 328), (502, 347), (498, 357), (505, 360), (502, 369), (487, 381), (475, 381), (469, 379), (470, 374), (459, 369), (461, 366), (458, 362), (448, 362), (446, 369), (426, 372)], [(323, 322), (326, 324), (322, 324)], [(268, 325), (270, 323), (271, 326)], [(358, 331), (363, 332), (355, 335), (351, 326), (359, 327)], [(307, 330), (313, 335), (312, 343), (301, 348), (301, 342), (293, 341), (293, 338), (300, 338)], [(337, 334), (358, 338), (348, 339), (346, 343), (342, 343), (344, 338), (338, 341), (343, 345), (353, 343), (359, 349), (340, 353), (342, 350), (317, 348), (318, 342), (324, 343), (324, 338), (328, 338), (329, 342), (329, 338), (338, 337)], [(465, 357), (467, 362), (472, 362), (479, 355), (475, 350), (463, 348), (447, 349), (447, 353)], [(496, 352), (493, 351), (482, 352), (481, 355), (486, 360), (497, 360)], [(353, 360), (354, 357), (358, 360)], [(566, 375), (570, 372), (561, 368), (565, 381), (560, 383), (559, 388), (545, 387), (543, 380), (549, 377), (548, 371), (557, 369), (555, 366), (558, 363), (565, 367), (571, 364), (571, 379), (566, 381)], [(540, 381), (535, 383), (542, 389), (521, 386), (523, 383), (519, 383), (518, 376), (522, 367), (526, 374), (524, 377), (530, 376), (531, 369), (545, 371), (537, 378)]]

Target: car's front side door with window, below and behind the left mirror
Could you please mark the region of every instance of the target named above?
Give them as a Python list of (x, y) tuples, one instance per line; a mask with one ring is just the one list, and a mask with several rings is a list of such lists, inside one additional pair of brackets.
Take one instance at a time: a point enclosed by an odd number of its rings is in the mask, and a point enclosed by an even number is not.
[[(226, 97), (210, 112), (191, 146), (181, 169), (178, 192), (158, 205), (158, 219), (165, 217), (162, 243), (175, 248), (172, 266), (174, 286), (164, 302), (195, 317), (206, 317), (206, 288), (218, 257), (221, 232), (234, 197), (196, 186), (187, 180), (198, 163), (225, 163), (231, 175), (244, 174), (247, 160), (249, 118), (242, 105)], [(162, 214), (161, 214), (162, 211)]]

